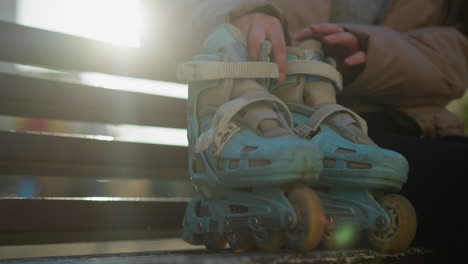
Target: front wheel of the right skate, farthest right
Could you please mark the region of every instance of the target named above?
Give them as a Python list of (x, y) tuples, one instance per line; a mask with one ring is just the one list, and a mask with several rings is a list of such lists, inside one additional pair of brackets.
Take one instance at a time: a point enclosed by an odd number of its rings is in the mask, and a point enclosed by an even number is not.
[(416, 211), (403, 196), (389, 194), (378, 200), (390, 216), (390, 228), (386, 231), (369, 232), (369, 242), (375, 249), (385, 252), (401, 252), (408, 248), (416, 234)]

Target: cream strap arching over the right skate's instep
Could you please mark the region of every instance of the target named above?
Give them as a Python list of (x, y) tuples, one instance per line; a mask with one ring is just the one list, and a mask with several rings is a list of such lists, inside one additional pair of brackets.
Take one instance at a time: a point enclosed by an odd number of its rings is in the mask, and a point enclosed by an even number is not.
[(334, 113), (337, 113), (337, 112), (346, 112), (346, 113), (350, 114), (352, 116), (352, 118), (354, 120), (356, 120), (359, 128), (361, 128), (361, 130), (367, 135), (367, 123), (366, 123), (366, 121), (364, 121), (364, 119), (362, 119), (362, 117), (360, 117), (359, 115), (357, 115), (353, 111), (349, 110), (348, 108), (343, 107), (341, 105), (337, 105), (337, 104), (326, 104), (326, 105), (320, 106), (317, 109), (317, 111), (315, 111), (314, 114), (309, 118), (308, 125), (310, 126), (310, 128), (313, 131), (317, 131), (320, 124), (327, 117), (329, 117), (330, 115), (332, 115)]

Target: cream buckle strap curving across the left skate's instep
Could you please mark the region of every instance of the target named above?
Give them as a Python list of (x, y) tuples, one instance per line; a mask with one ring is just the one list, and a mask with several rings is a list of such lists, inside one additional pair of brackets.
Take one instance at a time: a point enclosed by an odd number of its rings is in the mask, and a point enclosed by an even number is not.
[[(252, 91), (245, 95), (231, 100), (221, 105), (216, 111), (211, 122), (210, 129), (203, 132), (195, 144), (195, 153), (200, 153), (208, 148), (211, 143), (216, 147), (216, 156), (223, 150), (224, 145), (240, 130), (240, 127), (232, 122), (232, 118), (247, 105), (260, 101), (271, 101), (281, 107), (281, 111), (286, 115), (288, 126), (292, 124), (291, 113), (288, 107), (276, 96), (264, 91)], [(278, 116), (280, 114), (278, 113)]]

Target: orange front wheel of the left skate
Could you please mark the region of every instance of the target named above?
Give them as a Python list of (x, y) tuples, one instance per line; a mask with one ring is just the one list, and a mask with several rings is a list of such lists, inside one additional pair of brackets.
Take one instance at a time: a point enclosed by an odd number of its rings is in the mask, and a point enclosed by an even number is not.
[(301, 185), (289, 192), (288, 199), (297, 215), (296, 226), (285, 232), (288, 246), (302, 252), (310, 251), (320, 243), (325, 227), (320, 198)]

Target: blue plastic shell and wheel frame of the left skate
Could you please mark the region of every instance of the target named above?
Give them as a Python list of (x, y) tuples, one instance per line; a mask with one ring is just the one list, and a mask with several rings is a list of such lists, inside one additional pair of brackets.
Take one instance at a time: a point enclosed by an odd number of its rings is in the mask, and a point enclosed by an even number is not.
[[(220, 49), (236, 44), (231, 26), (218, 27), (193, 61), (223, 61)], [(197, 98), (205, 89), (216, 89), (222, 80), (189, 84), (189, 172), (199, 195), (189, 203), (183, 239), (204, 244), (206, 234), (284, 230), (296, 223), (296, 213), (283, 194), (285, 184), (318, 180), (322, 153), (314, 142), (295, 137), (263, 138), (244, 124), (218, 151), (213, 144), (195, 153), (194, 146), (213, 116), (197, 116)], [(218, 152), (217, 152), (218, 151)]]

